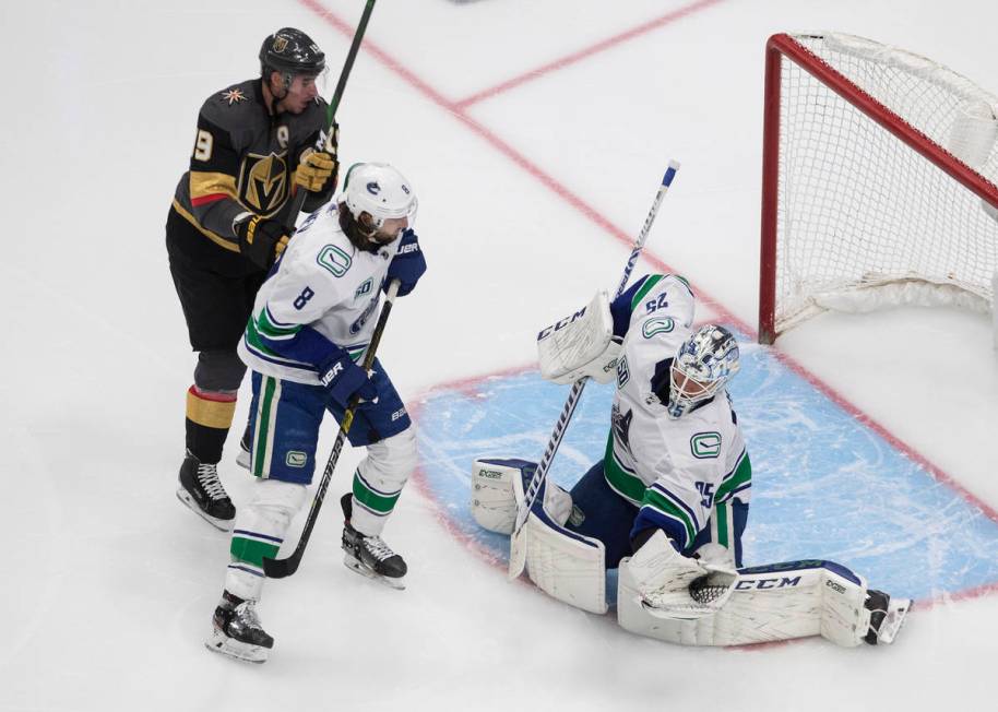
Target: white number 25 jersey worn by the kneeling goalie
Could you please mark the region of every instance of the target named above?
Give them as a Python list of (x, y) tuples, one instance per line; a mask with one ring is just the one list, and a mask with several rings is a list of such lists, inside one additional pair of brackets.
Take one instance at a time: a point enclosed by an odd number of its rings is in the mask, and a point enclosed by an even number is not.
[[(690, 549), (712, 526), (712, 541), (727, 545), (728, 503), (749, 501), (751, 465), (726, 391), (670, 418), (658, 393), (667, 393), (672, 357), (690, 336), (694, 297), (676, 275), (650, 275), (629, 289), (623, 352), (617, 363), (613, 428), (604, 472), (621, 497), (640, 508), (635, 529), (664, 530)], [(667, 399), (667, 396), (663, 396)], [(718, 531), (720, 530), (720, 531)]]

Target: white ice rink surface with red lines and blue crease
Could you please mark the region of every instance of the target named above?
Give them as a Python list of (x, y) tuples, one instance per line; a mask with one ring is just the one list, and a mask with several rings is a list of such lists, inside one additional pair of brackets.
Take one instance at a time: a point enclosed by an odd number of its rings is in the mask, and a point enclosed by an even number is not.
[[(706, 300), (698, 318), (752, 335), (770, 34), (870, 37), (995, 92), (998, 10), (971, 0), (381, 0), (338, 120), (344, 163), (389, 161), (420, 201), (429, 271), (381, 352), (421, 429), (420, 474), (385, 531), (408, 588), (341, 565), (331, 499), (299, 573), (265, 590), (277, 640), (266, 665), (204, 650), (228, 538), (174, 496), (193, 357), (163, 245), (169, 199), (199, 106), (254, 75), (263, 36), (309, 33), (331, 93), (363, 4), (0, 7), (0, 710), (991, 709), (998, 358), (986, 317), (823, 316), (747, 349), (752, 368), (733, 387), (760, 495), (750, 562), (821, 547), (913, 595), (892, 646), (633, 637), (507, 583), (462, 530), (460, 497), (479, 444), (539, 456), (563, 394), (530, 397), (536, 330), (616, 286), (669, 158), (682, 168), (638, 273), (680, 272)], [(605, 437), (606, 394), (586, 397), (578, 444), (559, 455), (568, 482)], [(448, 413), (474, 439), (451, 448)], [(238, 507), (249, 483), (234, 444), (221, 468)], [(855, 453), (851, 477), (816, 478), (830, 448)], [(359, 456), (345, 452), (333, 494)], [(459, 484), (444, 491), (433, 472), (452, 466)]]

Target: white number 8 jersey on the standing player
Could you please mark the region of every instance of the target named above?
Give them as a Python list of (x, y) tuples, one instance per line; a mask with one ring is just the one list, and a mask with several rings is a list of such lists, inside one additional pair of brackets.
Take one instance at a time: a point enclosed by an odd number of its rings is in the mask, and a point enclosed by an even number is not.
[(377, 252), (357, 249), (335, 202), (310, 215), (257, 293), (240, 358), (254, 371), (313, 385), (318, 366), (338, 349), (358, 361), (399, 241)]

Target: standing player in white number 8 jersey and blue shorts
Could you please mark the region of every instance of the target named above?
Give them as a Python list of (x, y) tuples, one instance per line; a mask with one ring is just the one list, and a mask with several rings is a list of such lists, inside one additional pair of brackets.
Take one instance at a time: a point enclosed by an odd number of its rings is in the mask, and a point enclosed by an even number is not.
[(256, 613), (263, 558), (276, 558), (316, 467), (325, 412), (341, 420), (353, 395), (360, 404), (347, 438), (367, 456), (341, 500), (346, 565), (404, 588), (406, 565), (381, 538), (416, 464), (409, 416), (376, 358), (361, 360), (381, 292), (399, 280), (399, 296), (426, 270), (412, 226), (416, 195), (387, 164), (358, 164), (345, 192), (296, 232), (260, 288), (239, 356), (252, 369), (250, 471), (257, 480), (236, 515), (231, 562), (206, 641), (211, 650), (264, 662), (273, 638)]

